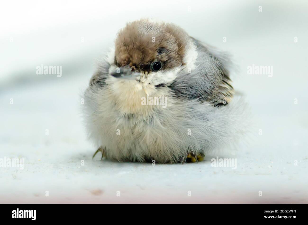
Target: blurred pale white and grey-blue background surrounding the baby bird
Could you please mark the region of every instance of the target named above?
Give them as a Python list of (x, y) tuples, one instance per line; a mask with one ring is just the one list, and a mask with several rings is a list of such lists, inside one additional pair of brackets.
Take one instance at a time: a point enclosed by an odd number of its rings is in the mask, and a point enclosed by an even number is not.
[[(25, 169), (0, 167), (0, 203), (308, 203), (307, 10), (305, 0), (2, 2), (0, 158)], [(231, 156), (236, 170), (211, 167), (216, 155), (155, 167), (91, 159), (81, 94), (116, 32), (144, 17), (233, 55), (255, 124)], [(42, 64), (62, 76), (36, 74)], [(248, 74), (253, 64), (273, 76)]]

